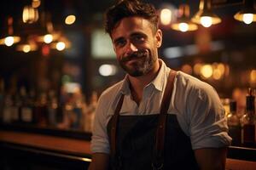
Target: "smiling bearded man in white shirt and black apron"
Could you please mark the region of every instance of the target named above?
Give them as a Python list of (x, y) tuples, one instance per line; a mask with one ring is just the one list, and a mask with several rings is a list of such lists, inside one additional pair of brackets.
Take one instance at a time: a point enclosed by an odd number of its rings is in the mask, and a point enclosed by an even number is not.
[(139, 0), (108, 8), (105, 28), (127, 75), (98, 101), (90, 170), (224, 169), (230, 137), (218, 94), (159, 59), (158, 21)]

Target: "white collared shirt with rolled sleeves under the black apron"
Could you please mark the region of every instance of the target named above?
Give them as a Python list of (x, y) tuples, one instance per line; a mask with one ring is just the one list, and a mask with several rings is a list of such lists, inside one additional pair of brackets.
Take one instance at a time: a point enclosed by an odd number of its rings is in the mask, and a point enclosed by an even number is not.
[[(102, 93), (98, 100), (92, 132), (92, 153), (110, 151), (107, 126), (121, 94), (125, 94), (125, 99), (120, 115), (143, 116), (160, 113), (160, 103), (170, 68), (161, 59), (159, 61), (160, 71), (157, 77), (143, 88), (140, 105), (132, 100), (127, 76)], [(177, 71), (168, 114), (177, 116), (180, 127), (191, 140), (193, 150), (230, 145), (224, 108), (216, 91), (206, 82)]]

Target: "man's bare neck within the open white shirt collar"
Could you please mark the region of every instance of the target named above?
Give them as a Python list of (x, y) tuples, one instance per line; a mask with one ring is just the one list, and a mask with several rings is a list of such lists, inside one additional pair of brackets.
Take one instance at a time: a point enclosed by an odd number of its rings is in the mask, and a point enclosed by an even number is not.
[(154, 66), (154, 69), (148, 72), (147, 75), (143, 75), (141, 77), (131, 77), (128, 75), (129, 81), (130, 81), (132, 99), (137, 103), (137, 105), (140, 104), (143, 98), (143, 88), (145, 88), (148, 85), (148, 83), (154, 80), (159, 70), (160, 70), (160, 61), (157, 60)]

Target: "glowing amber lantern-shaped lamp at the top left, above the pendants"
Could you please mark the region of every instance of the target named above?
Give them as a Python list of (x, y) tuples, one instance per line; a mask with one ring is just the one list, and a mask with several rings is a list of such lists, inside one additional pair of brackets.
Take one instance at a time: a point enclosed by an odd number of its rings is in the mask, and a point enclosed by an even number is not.
[(38, 20), (38, 8), (25, 6), (22, 12), (22, 20), (24, 23), (32, 24)]

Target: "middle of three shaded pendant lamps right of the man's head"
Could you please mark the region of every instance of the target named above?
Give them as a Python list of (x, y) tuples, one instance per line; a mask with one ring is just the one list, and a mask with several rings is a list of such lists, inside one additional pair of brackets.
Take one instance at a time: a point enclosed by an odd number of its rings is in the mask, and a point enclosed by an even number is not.
[(221, 19), (212, 13), (211, 0), (201, 0), (199, 4), (199, 11), (194, 15), (192, 21), (196, 24), (209, 27), (221, 22)]

